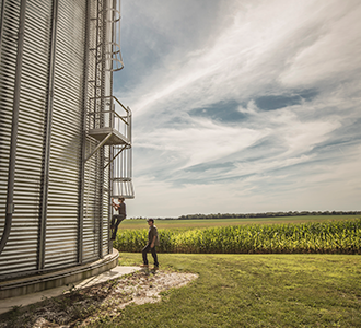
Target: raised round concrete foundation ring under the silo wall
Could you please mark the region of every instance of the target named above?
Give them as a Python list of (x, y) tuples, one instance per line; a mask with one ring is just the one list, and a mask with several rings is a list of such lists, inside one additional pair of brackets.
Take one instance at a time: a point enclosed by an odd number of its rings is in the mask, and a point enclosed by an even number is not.
[(100, 274), (115, 268), (118, 265), (118, 258), (119, 253), (113, 248), (112, 254), (95, 262), (0, 282), (0, 300), (67, 285)]

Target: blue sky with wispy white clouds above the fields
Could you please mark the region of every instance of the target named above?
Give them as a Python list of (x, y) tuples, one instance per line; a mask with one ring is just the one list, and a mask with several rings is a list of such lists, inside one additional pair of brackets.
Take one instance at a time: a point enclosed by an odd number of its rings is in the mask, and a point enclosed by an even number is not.
[(128, 218), (361, 210), (361, 2), (123, 0)]

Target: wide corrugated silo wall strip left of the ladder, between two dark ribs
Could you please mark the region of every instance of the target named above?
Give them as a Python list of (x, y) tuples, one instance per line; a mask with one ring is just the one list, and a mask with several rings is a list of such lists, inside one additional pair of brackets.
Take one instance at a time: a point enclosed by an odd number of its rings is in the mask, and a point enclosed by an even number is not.
[(59, 1), (45, 268), (78, 263), (85, 1)]

